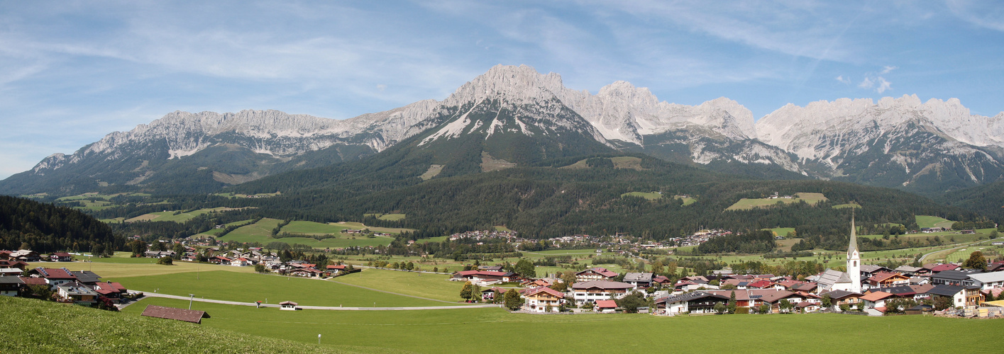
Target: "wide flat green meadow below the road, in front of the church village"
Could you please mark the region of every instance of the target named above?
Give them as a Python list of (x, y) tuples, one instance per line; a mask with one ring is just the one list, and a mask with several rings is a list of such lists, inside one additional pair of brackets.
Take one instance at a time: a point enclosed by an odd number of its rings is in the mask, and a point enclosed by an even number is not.
[[(139, 316), (143, 305), (187, 307), (188, 302), (146, 299), (126, 308)], [(937, 336), (912, 337), (910, 352), (996, 352), (1004, 321), (947, 319), (931, 316), (865, 317), (835, 314), (727, 315), (656, 317), (631, 314), (547, 316), (510, 314), (502, 309), (423, 311), (280, 311), (195, 303), (209, 313), (203, 327), (225, 329), (262, 337), (282, 338), (321, 345), (381, 346), (419, 353), (532, 352), (561, 348), (562, 352), (610, 352), (609, 348), (658, 348), (666, 334), (675, 338), (708, 338), (708, 333), (729, 333), (735, 338), (764, 340), (677, 341), (673, 352), (803, 353), (806, 338), (812, 352), (837, 352), (848, 339), (862, 348), (885, 348), (890, 331), (923, 333), (938, 328)], [(304, 326), (309, 324), (309, 326)], [(896, 326), (896, 328), (893, 328)], [(346, 335), (346, 330), (351, 329)], [(458, 333), (491, 333), (472, 349)], [(576, 340), (569, 340), (570, 337)], [(945, 340), (945, 338), (966, 340)], [(519, 338), (519, 340), (513, 340)], [(896, 350), (892, 350), (896, 351)]]

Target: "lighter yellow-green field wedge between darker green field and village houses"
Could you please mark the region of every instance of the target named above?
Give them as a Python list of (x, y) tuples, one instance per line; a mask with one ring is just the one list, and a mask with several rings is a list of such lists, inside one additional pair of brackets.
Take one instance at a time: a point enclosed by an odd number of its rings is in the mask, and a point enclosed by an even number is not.
[(359, 273), (332, 278), (331, 281), (427, 299), (460, 301), (460, 289), (464, 283), (447, 281), (448, 278), (450, 276), (442, 274), (364, 269)]

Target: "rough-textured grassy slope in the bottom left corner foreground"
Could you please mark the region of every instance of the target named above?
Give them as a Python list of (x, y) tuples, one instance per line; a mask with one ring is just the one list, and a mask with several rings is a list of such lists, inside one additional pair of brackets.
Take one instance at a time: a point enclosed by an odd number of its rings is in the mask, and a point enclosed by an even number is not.
[[(318, 346), (272, 336), (249, 336), (206, 324), (142, 317), (147, 302), (118, 313), (0, 296), (2, 353), (372, 353), (381, 348)], [(172, 303), (174, 307), (183, 307)], [(232, 312), (231, 312), (232, 313)], [(221, 313), (222, 314), (222, 313)], [(229, 316), (230, 314), (223, 314)], [(210, 314), (213, 316), (213, 314)], [(204, 321), (218, 321), (205, 319)]]

